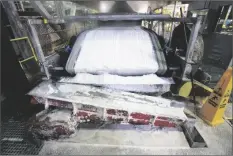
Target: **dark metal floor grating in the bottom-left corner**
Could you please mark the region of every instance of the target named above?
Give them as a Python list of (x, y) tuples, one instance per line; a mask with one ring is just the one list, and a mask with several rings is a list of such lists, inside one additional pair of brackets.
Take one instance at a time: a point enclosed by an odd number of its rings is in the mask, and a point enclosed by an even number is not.
[(27, 139), (24, 121), (13, 119), (1, 123), (1, 155), (38, 155), (43, 143)]

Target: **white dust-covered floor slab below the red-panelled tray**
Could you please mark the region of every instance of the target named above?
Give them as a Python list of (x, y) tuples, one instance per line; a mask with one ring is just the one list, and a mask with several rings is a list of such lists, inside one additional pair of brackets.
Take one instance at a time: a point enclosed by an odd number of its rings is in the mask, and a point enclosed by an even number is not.
[(74, 137), (58, 142), (73, 142), (90, 146), (189, 148), (183, 132), (174, 129), (155, 131), (81, 129)]

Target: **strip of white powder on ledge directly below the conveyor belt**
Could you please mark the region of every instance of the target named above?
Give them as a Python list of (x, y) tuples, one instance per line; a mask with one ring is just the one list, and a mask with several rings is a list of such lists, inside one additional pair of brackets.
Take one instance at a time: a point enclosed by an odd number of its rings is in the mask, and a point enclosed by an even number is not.
[(170, 84), (174, 81), (172, 78), (161, 78), (156, 74), (142, 76), (119, 76), (111, 74), (93, 75), (89, 73), (77, 73), (74, 77), (64, 77), (59, 82), (92, 84), (123, 91), (134, 92), (167, 92), (170, 90)]

